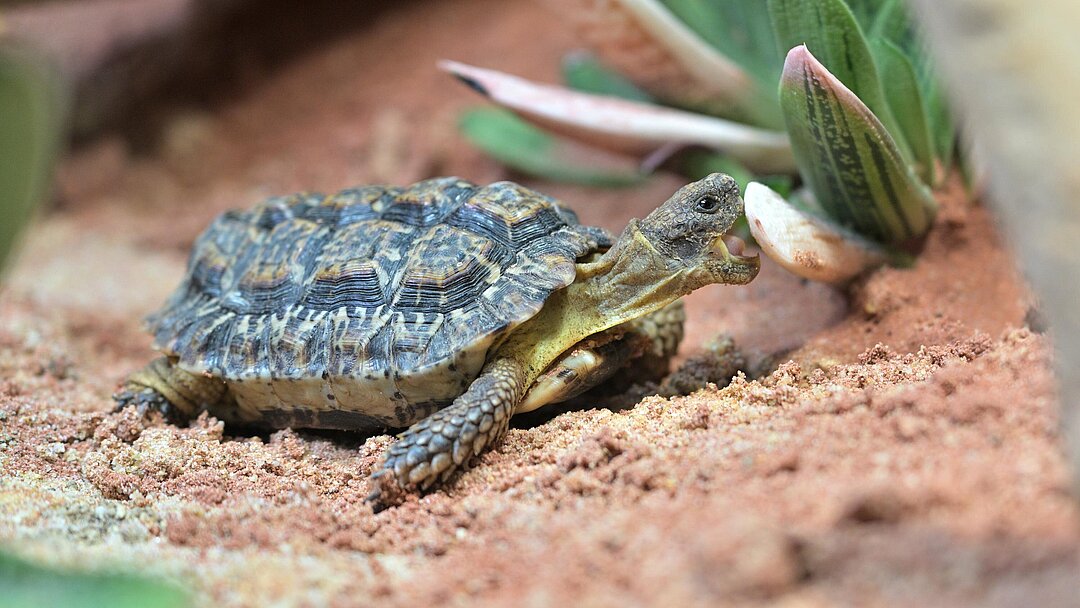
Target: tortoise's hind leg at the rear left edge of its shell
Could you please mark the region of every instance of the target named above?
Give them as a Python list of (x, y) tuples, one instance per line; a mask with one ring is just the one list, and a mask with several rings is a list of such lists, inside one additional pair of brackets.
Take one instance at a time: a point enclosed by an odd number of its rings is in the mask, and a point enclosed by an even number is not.
[(225, 397), (225, 382), (180, 369), (167, 357), (158, 357), (132, 374), (114, 395), (117, 409), (134, 406), (156, 409), (170, 421), (193, 418)]

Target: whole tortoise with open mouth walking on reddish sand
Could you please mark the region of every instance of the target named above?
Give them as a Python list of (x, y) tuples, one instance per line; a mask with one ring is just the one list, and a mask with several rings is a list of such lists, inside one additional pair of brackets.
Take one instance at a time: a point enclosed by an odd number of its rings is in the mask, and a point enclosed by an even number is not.
[(723, 174), (618, 239), (511, 181), (271, 198), (198, 238), (147, 321), (163, 356), (116, 400), (244, 425), (407, 428), (376, 476), (428, 490), (514, 414), (619, 370), (666, 368), (678, 299), (757, 274), (757, 256), (726, 234), (742, 211)]

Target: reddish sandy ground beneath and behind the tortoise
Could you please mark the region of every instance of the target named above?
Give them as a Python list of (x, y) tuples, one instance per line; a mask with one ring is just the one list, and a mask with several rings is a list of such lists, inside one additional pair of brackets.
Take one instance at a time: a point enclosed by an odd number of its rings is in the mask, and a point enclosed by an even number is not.
[[(795, 349), (764, 377), (530, 418), (379, 514), (363, 498), (389, 436), (110, 414), (152, 355), (140, 316), (210, 218), (299, 189), (505, 177), (457, 138), (477, 99), (434, 59), (551, 80), (559, 23), (529, 3), (405, 8), (179, 116), (148, 156), (104, 139), (68, 159), (0, 292), (0, 542), (207, 605), (1076, 606), (1050, 346), (991, 219), (955, 192), (912, 269), (840, 294), (767, 265), (691, 296), (684, 356), (721, 333)], [(529, 184), (618, 229), (678, 181)]]

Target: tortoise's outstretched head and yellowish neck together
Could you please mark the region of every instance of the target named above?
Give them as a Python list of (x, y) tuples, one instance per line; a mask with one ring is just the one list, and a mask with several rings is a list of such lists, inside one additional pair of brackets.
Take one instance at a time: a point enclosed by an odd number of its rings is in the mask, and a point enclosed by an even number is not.
[(497, 356), (513, 357), (531, 383), (589, 336), (660, 310), (714, 283), (744, 284), (760, 260), (726, 234), (743, 214), (739, 187), (714, 173), (684, 186), (645, 219), (633, 219), (604, 255), (578, 264), (570, 285), (515, 329)]

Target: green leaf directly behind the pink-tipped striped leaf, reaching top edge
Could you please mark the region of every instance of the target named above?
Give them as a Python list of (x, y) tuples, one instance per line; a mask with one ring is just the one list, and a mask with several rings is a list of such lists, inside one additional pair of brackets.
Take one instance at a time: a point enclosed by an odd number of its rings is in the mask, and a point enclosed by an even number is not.
[(768, 0), (784, 52), (802, 44), (881, 121), (901, 153), (910, 150), (885, 97), (869, 44), (843, 0)]

